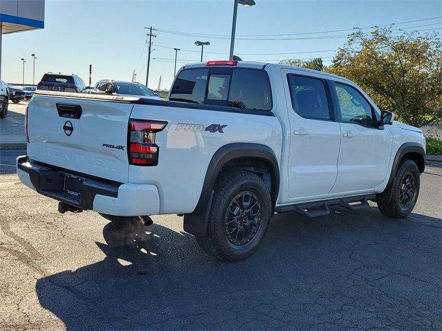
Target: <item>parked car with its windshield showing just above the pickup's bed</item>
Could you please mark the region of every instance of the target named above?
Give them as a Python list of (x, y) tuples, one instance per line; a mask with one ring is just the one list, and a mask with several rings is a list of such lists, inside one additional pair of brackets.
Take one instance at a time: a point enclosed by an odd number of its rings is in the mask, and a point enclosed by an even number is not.
[(149, 99), (162, 100), (150, 88), (133, 81), (113, 81), (105, 79), (95, 84), (92, 91), (97, 94), (140, 95)]

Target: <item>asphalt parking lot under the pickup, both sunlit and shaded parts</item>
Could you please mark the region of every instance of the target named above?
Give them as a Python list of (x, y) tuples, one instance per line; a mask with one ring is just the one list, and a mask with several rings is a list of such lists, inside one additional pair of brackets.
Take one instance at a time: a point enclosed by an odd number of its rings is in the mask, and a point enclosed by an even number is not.
[[(327, 217), (273, 217), (253, 257), (207, 257), (176, 215), (117, 228), (59, 214), (19, 183), (0, 150), (1, 330), (441, 330), (440, 163), (414, 213), (374, 204)], [(137, 248), (119, 247), (122, 240)]]

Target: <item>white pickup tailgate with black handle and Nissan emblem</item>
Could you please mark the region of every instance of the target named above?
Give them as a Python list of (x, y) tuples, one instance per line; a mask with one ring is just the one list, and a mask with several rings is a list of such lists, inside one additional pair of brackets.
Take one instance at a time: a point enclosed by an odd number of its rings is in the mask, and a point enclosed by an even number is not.
[(35, 95), (28, 108), (28, 157), (126, 183), (132, 103)]

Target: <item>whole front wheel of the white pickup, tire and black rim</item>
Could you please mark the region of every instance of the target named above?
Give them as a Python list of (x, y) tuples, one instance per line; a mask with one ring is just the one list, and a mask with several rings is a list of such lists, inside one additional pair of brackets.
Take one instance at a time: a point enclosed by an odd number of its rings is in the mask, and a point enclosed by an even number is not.
[(419, 169), (413, 160), (405, 160), (398, 168), (393, 182), (378, 194), (382, 214), (395, 219), (407, 217), (416, 205), (420, 185)]

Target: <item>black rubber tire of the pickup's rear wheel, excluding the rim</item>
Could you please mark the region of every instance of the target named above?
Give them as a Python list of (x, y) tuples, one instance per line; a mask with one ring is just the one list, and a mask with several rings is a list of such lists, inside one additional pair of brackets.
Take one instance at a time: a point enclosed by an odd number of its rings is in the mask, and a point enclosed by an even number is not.
[[(260, 223), (254, 237), (242, 245), (234, 245), (227, 237), (227, 208), (243, 192), (251, 192), (261, 208)], [(198, 245), (207, 254), (221, 261), (238, 261), (258, 250), (271, 217), (270, 188), (253, 172), (233, 171), (220, 174), (214, 188), (206, 234), (197, 237)]]

